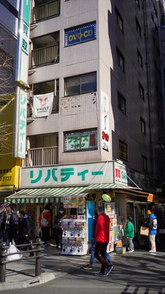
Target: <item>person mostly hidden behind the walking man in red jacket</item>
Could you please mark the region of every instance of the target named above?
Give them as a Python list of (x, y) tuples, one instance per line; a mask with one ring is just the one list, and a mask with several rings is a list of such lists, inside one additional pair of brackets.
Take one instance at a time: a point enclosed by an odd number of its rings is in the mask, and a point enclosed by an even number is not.
[[(97, 209), (94, 209), (94, 220), (92, 222), (92, 246), (91, 246), (91, 256), (90, 256), (90, 260), (89, 260), (89, 264), (85, 265), (84, 267), (82, 267), (82, 269), (92, 269), (92, 265), (94, 263), (94, 250), (95, 250), (95, 245), (96, 245), (96, 241), (94, 239), (94, 234), (95, 234), (95, 228), (96, 228), (96, 222), (97, 222), (97, 218), (98, 218), (98, 213), (97, 213)], [(106, 252), (106, 260), (108, 262), (109, 265), (111, 265), (111, 267), (113, 267), (112, 264), (112, 258), (110, 258), (110, 255), (108, 254), (108, 252)]]

